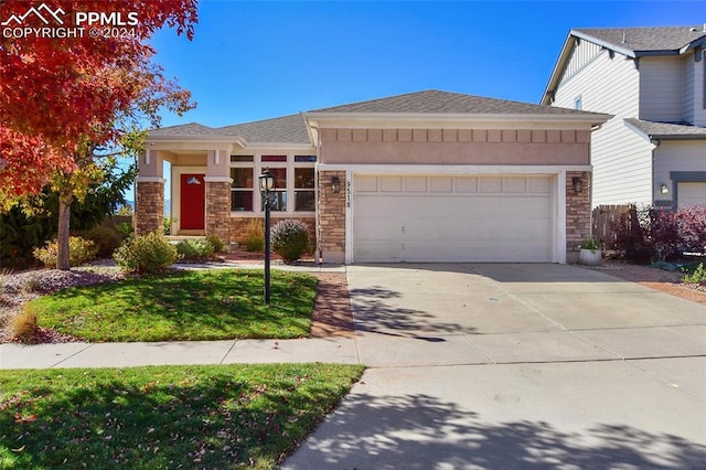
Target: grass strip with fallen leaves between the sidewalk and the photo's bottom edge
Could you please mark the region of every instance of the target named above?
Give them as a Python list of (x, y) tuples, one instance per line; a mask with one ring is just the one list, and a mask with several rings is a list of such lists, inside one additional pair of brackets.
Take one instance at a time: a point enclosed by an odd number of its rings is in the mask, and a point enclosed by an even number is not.
[(0, 468), (275, 468), (363, 367), (0, 371)]

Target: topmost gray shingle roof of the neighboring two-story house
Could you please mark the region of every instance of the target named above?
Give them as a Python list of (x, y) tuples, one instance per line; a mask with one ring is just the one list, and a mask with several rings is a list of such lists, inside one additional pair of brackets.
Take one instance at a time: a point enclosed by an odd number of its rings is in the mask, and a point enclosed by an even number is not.
[[(614, 49), (640, 52), (678, 52), (682, 47), (706, 36), (703, 25), (659, 28), (590, 28), (571, 33), (589, 36)], [(623, 42), (624, 34), (624, 42)]]

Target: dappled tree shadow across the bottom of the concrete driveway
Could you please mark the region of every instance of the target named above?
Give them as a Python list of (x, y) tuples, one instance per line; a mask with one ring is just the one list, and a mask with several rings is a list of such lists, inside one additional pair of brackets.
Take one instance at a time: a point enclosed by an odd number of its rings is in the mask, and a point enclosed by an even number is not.
[[(285, 469), (704, 468), (706, 447), (631, 426), (493, 423), (419, 394), (349, 396)], [(314, 467), (309, 467), (314, 464)], [(403, 467), (400, 467), (403, 466)]]

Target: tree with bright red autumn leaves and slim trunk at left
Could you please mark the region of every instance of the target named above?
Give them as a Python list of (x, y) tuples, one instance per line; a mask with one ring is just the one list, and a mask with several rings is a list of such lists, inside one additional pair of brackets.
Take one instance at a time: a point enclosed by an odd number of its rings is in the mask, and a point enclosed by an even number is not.
[(0, 207), (52, 183), (60, 268), (67, 210), (99, 174), (95, 149), (119, 145), (139, 117), (158, 126), (162, 106), (192, 106), (147, 41), (162, 26), (191, 40), (196, 21), (196, 0), (0, 2)]

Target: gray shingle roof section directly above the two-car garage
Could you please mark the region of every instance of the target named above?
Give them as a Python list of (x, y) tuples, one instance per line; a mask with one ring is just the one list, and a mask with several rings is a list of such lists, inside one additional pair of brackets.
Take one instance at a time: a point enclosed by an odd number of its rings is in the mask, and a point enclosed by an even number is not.
[(591, 113), (530, 103), (485, 98), (461, 93), (409, 93), (388, 98), (372, 99), (310, 113), (381, 113), (381, 114), (509, 114), (509, 115), (590, 115)]

